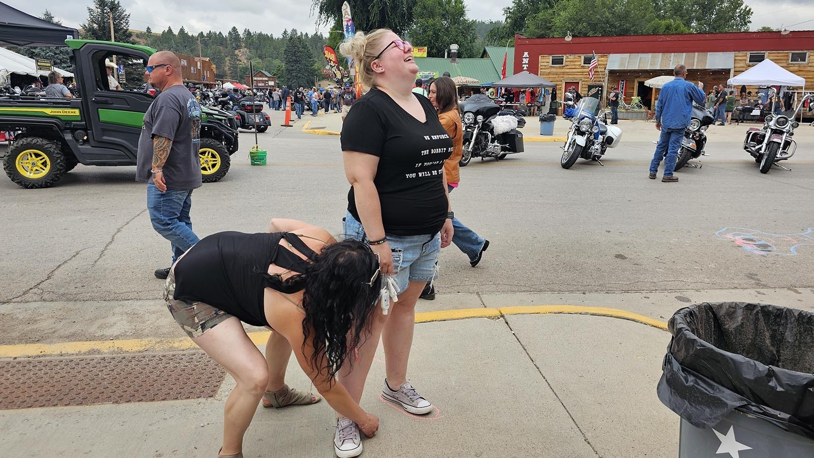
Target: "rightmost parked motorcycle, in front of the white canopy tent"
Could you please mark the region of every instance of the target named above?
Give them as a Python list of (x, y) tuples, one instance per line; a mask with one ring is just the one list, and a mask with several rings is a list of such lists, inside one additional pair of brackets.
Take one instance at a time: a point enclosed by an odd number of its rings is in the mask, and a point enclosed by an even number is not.
[(797, 117), (808, 99), (814, 99), (814, 95), (803, 97), (791, 117), (769, 114), (764, 118), (763, 128), (752, 127), (746, 130), (743, 149), (755, 158), (761, 174), (767, 173), (772, 165), (791, 171), (777, 162), (786, 161), (797, 151), (797, 142), (791, 139), (794, 129), (799, 127), (799, 122), (794, 121), (794, 117)]

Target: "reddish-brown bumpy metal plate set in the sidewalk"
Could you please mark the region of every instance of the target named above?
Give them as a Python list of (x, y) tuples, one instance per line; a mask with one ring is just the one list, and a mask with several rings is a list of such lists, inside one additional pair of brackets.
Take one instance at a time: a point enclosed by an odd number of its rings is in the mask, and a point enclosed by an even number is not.
[(0, 409), (212, 398), (223, 368), (201, 352), (0, 361)]

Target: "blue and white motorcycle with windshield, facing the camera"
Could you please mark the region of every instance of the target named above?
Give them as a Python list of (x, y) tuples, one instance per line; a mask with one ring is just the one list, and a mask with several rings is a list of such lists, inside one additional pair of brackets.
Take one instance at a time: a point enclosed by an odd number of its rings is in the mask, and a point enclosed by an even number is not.
[(607, 114), (599, 108), (599, 99), (584, 97), (580, 100), (562, 146), (560, 165), (563, 169), (570, 169), (580, 157), (604, 166), (600, 159), (607, 148), (616, 148), (622, 139), (619, 127), (608, 126)]

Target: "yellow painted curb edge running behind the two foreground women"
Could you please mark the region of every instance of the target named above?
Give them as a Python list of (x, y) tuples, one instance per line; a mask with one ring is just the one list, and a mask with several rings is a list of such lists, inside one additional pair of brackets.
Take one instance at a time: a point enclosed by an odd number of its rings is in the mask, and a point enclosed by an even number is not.
[[(433, 323), (454, 319), (499, 318), (505, 315), (534, 314), (573, 314), (596, 315), (610, 318), (628, 319), (654, 328), (667, 330), (667, 323), (638, 315), (627, 310), (590, 306), (509, 306), (500, 308), (475, 308), (438, 310), (415, 314), (416, 323)], [(248, 332), (255, 345), (263, 345), (269, 340), (271, 332)], [(186, 337), (176, 339), (125, 339), (119, 341), (77, 341), (55, 344), (20, 344), (0, 346), (0, 358), (24, 358), (28, 356), (85, 355), (105, 353), (138, 353), (141, 351), (177, 351), (195, 348), (193, 341)]]

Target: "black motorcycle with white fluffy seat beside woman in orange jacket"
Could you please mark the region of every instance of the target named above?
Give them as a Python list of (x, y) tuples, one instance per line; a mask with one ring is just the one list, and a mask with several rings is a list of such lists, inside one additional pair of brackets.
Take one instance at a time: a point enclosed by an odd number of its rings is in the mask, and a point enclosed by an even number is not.
[(461, 167), (472, 157), (494, 157), (497, 161), (506, 155), (523, 152), (523, 132), (526, 119), (515, 110), (501, 110), (488, 95), (475, 94), (461, 103), (463, 112), (463, 156)]

